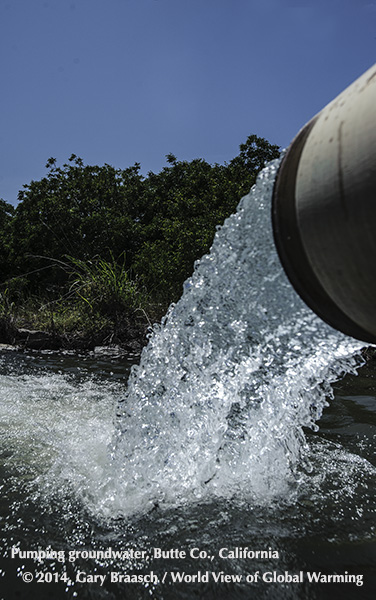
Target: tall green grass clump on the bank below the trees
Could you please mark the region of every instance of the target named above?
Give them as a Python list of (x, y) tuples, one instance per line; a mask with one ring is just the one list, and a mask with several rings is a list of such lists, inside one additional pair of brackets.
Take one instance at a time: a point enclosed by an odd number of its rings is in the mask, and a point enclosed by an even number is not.
[(27, 294), (25, 282), (17, 278), (0, 288), (3, 332), (28, 328), (67, 339), (85, 338), (88, 343), (94, 339), (102, 344), (121, 343), (129, 337), (141, 338), (162, 316), (130, 277), (124, 257), (115, 260), (111, 256), (110, 261), (66, 257), (61, 265), (68, 273), (68, 284), (48, 297)]

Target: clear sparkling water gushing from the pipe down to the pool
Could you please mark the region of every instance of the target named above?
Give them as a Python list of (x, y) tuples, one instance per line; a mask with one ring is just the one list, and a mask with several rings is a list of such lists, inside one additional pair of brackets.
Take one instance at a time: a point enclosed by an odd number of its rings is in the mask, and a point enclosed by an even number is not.
[(303, 427), (316, 427), (330, 383), (357, 366), (362, 344), (319, 320), (282, 270), (271, 226), (277, 169), (262, 171), (218, 230), (132, 368), (101, 501), (111, 514), (292, 493)]

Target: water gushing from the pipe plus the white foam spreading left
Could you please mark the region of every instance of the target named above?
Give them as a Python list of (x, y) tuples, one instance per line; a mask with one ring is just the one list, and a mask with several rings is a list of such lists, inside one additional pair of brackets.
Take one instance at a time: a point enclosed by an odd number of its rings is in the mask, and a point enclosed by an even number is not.
[(330, 383), (356, 368), (361, 344), (314, 316), (284, 275), (270, 221), (277, 168), (264, 169), (219, 229), (126, 391), (110, 386), (83, 406), (100, 386), (38, 376), (30, 393), (30, 376), (27, 392), (22, 377), (4, 376), (4, 447), (16, 448), (14, 464), (28, 455), (40, 501), (69, 493), (116, 517), (294, 494), (310, 468), (303, 428), (316, 427)]

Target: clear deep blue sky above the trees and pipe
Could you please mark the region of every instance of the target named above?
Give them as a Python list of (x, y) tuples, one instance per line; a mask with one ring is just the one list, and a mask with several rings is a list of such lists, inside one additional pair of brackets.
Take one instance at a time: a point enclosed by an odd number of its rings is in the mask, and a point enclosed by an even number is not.
[(0, 0), (0, 197), (74, 153), (159, 172), (288, 146), (376, 60), (373, 0)]

